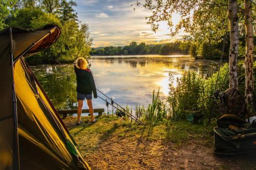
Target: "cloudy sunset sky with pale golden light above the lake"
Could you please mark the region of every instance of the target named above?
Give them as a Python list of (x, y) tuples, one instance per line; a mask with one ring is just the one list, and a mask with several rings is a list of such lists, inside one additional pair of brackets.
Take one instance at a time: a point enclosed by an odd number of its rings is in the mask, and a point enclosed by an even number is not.
[[(143, 0), (141, 0), (143, 2)], [(93, 47), (124, 46), (130, 42), (161, 44), (181, 40), (186, 33), (180, 32), (172, 37), (166, 22), (160, 22), (159, 29), (154, 33), (146, 23), (146, 16), (151, 11), (138, 7), (136, 0), (76, 0), (75, 10), (78, 19), (87, 23), (90, 28)], [(133, 8), (136, 8), (135, 11)], [(177, 24), (179, 14), (173, 14), (173, 22)]]

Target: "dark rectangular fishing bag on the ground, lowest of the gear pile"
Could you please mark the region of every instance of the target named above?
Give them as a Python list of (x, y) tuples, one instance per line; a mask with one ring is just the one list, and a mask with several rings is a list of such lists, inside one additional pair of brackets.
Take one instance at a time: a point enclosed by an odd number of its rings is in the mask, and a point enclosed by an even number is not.
[(247, 128), (214, 128), (214, 153), (231, 155), (256, 152), (256, 128)]

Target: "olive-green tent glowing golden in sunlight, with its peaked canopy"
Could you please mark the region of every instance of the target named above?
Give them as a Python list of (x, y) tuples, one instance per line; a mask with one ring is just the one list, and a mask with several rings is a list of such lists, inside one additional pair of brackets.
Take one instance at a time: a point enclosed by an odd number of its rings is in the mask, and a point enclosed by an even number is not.
[(0, 169), (90, 169), (24, 59), (59, 36), (56, 25), (0, 32)]

